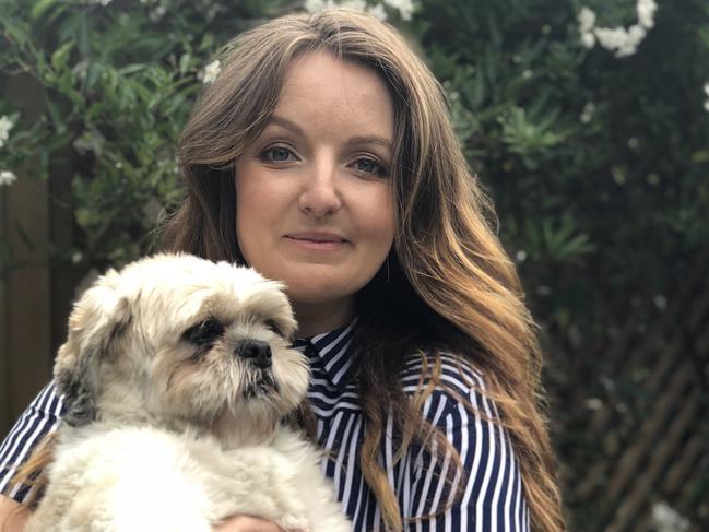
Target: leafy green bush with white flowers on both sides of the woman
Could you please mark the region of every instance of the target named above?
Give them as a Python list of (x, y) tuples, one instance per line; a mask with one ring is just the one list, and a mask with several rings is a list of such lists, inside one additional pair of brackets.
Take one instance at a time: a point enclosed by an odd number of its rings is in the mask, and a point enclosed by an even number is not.
[[(0, 182), (21, 170), (51, 178), (52, 164), (68, 159), (76, 240), (52, 257), (99, 269), (144, 252), (159, 213), (181, 198), (176, 139), (218, 46), (265, 19), (333, 3), (1, 2), (0, 87), (38, 86), (43, 109), (31, 121), (0, 99)], [(602, 394), (603, 382), (622, 387), (614, 360), (586, 356), (598, 353), (590, 346), (607, 345), (630, 317), (642, 334), (681, 309), (682, 282), (709, 252), (709, 4), (653, 5), (368, 4), (411, 38), (447, 90), (564, 404), (581, 385), (581, 399)], [(2, 267), (13, 267), (11, 250)], [(593, 446), (576, 428), (583, 413), (555, 415), (574, 470)]]

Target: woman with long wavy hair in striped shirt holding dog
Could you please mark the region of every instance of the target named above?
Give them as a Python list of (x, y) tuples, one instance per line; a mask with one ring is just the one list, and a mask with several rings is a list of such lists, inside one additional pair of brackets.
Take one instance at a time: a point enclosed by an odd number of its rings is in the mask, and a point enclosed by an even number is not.
[[(285, 282), (354, 530), (564, 528), (533, 321), (440, 86), (394, 31), (329, 10), (240, 35), (179, 162), (164, 243)], [(60, 411), (49, 387), (0, 451), (9, 470)]]

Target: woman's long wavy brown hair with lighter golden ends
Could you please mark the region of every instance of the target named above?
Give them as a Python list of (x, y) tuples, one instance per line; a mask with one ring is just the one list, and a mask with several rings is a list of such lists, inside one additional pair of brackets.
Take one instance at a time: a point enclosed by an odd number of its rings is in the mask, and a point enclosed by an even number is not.
[[(326, 10), (276, 19), (229, 43), (221, 74), (180, 139), (188, 197), (165, 227), (165, 246), (244, 262), (235, 233), (234, 162), (273, 113), (288, 66), (312, 50), (371, 69), (394, 104), (394, 246), (357, 295), (353, 342), (367, 422), (361, 465), (386, 528), (402, 529), (397, 497), (377, 461), (387, 415), (401, 435), (401, 457), (426, 426), (420, 406), (432, 383), (445, 387), (439, 352), (446, 350), (484, 375), (484, 393), (499, 411), (493, 422), (506, 428), (521, 470), (532, 529), (563, 530), (535, 324), (495, 234), (492, 204), (459, 147), (444, 91), (391, 26), (364, 13)], [(398, 376), (405, 356), (422, 350), (434, 364), (406, 400)], [(434, 434), (423, 444), (435, 447), (435, 439), (445, 438)]]

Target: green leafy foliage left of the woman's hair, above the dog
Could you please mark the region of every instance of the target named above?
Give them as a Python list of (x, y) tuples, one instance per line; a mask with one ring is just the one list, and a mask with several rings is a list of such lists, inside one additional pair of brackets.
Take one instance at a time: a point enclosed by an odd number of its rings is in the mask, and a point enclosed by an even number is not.
[(104, 268), (145, 251), (156, 213), (184, 193), (175, 146), (200, 70), (236, 33), (281, 12), (279, 2), (2, 1), (0, 87), (38, 86), (29, 105), (42, 109), (21, 116), (16, 101), (0, 99), (14, 122), (0, 169), (46, 179), (69, 157), (74, 170), (78, 240), (55, 260)]

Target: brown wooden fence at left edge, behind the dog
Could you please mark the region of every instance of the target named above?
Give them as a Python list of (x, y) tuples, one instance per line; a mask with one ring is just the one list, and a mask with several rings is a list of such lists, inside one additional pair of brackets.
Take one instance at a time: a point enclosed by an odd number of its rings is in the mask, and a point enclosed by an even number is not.
[[(8, 78), (5, 98), (32, 122), (44, 108), (31, 78)], [(0, 187), (0, 243), (12, 250), (12, 265), (0, 277), (0, 435), (48, 381), (54, 354), (67, 333), (74, 287), (85, 273), (52, 264), (50, 249), (73, 241), (72, 161), (58, 153), (48, 181), (16, 169), (17, 180)]]

